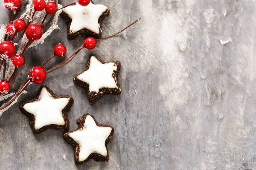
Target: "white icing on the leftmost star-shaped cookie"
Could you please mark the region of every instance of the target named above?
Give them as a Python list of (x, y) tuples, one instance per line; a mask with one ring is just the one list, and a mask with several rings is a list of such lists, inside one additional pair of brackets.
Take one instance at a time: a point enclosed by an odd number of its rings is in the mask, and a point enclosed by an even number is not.
[(46, 88), (42, 88), (39, 101), (27, 103), (23, 108), (35, 116), (35, 130), (45, 125), (65, 125), (61, 111), (69, 98), (54, 99)]

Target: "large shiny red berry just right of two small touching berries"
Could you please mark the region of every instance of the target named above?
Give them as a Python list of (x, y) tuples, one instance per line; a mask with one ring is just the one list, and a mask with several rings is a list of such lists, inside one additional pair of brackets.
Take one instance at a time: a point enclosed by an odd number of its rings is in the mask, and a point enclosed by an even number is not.
[(29, 41), (39, 40), (43, 36), (43, 29), (37, 24), (31, 24), (26, 28), (26, 36)]

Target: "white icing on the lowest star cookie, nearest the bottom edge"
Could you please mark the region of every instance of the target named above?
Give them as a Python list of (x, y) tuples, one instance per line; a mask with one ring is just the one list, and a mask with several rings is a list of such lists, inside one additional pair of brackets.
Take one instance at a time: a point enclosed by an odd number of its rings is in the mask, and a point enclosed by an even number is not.
[(91, 153), (107, 156), (105, 141), (112, 131), (111, 127), (97, 126), (94, 119), (87, 115), (84, 127), (69, 133), (69, 136), (80, 146), (79, 161), (84, 161)]

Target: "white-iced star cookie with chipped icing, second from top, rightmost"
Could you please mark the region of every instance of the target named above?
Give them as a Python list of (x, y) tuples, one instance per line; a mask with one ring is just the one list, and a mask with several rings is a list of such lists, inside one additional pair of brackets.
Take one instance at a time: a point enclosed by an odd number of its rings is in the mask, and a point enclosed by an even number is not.
[(122, 90), (117, 80), (120, 67), (119, 61), (103, 62), (101, 59), (91, 56), (86, 69), (73, 81), (86, 90), (89, 103), (93, 105), (104, 94), (121, 94)]

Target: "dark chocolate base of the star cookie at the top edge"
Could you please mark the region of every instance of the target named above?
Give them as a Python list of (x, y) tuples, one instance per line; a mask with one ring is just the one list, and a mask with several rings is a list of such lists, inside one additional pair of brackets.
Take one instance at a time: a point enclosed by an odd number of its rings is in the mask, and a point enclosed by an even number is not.
[[(91, 2), (93, 3), (93, 1), (91, 0)], [(94, 3), (93, 3), (94, 4)], [(105, 19), (105, 17), (107, 17), (109, 15), (109, 8), (102, 13), (102, 15), (99, 17), (98, 23), (99, 26), (101, 27), (102, 25), (102, 21)], [(68, 16), (68, 14), (66, 14), (64, 11), (61, 12), (60, 16), (65, 20), (65, 22), (67, 23), (67, 39), (68, 40), (74, 40), (78, 37), (93, 37), (96, 39), (99, 39), (102, 37), (102, 31), (101, 29), (99, 29), (99, 34), (96, 34), (95, 32), (92, 32), (88, 29), (81, 29), (80, 31), (74, 32), (74, 33), (70, 33), (70, 25), (72, 22), (72, 19)]]

